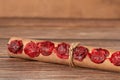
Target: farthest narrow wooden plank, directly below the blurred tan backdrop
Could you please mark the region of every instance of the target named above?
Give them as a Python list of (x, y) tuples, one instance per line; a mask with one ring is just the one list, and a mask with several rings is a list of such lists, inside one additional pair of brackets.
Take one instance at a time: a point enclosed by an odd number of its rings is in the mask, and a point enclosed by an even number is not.
[(119, 19), (0, 18), (0, 26), (119, 27)]

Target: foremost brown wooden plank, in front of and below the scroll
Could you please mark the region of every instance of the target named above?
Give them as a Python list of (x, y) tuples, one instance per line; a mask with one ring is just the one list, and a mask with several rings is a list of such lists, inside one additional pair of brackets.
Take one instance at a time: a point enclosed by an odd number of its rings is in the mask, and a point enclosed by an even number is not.
[[(18, 61), (10, 58), (0, 59), (0, 78), (11, 79), (43, 79), (43, 80), (114, 80), (119, 79), (119, 73), (105, 72), (86, 68), (70, 68), (64, 65)], [(14, 65), (13, 65), (14, 64)]]

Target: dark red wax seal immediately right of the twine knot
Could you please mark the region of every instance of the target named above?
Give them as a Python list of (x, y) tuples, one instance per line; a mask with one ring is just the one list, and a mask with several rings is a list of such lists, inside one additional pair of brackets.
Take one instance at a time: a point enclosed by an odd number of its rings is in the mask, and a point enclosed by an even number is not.
[(73, 58), (82, 61), (89, 53), (88, 49), (83, 46), (77, 46), (73, 49)]

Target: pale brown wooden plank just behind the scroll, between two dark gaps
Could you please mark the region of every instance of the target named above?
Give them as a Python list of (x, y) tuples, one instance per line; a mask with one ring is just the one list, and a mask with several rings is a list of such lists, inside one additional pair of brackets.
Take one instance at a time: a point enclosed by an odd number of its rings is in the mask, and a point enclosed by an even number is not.
[(19, 36), (41, 39), (117, 39), (120, 27), (0, 27), (0, 37)]

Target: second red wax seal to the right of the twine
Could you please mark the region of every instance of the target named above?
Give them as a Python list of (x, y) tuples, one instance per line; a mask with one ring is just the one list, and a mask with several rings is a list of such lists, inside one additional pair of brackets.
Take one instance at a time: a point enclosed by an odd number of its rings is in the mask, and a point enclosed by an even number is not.
[(89, 53), (91, 61), (97, 64), (103, 63), (108, 55), (109, 51), (102, 48), (93, 49), (92, 52)]

